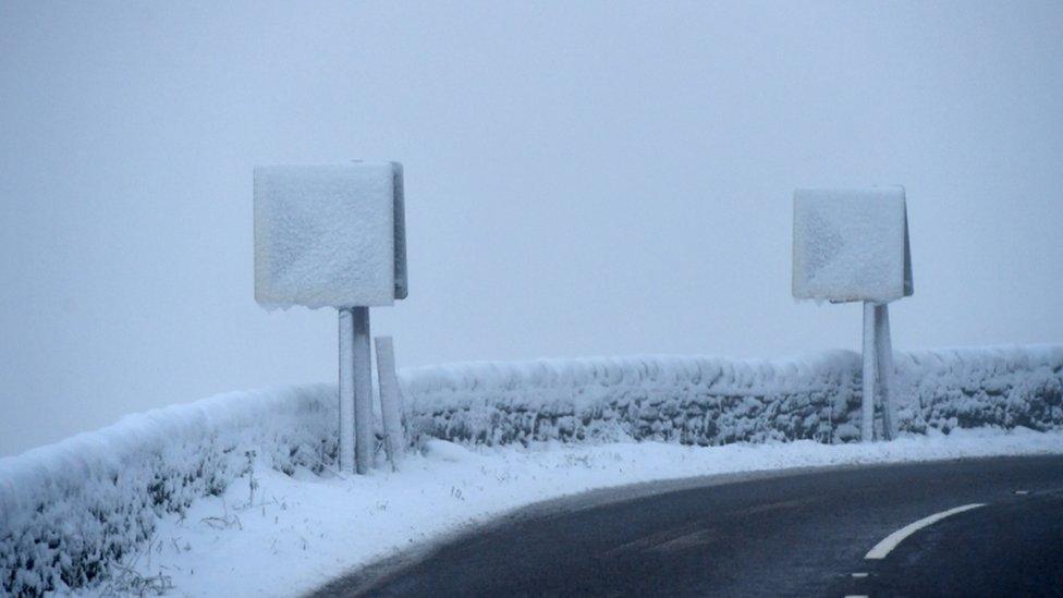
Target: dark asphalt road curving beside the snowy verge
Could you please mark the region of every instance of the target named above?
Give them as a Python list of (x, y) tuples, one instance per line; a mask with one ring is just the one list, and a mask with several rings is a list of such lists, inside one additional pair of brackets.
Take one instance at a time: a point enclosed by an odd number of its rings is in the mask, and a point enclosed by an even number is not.
[[(724, 481), (533, 508), (318, 595), (1063, 596), (1061, 456)], [(976, 503), (865, 559), (899, 529)]]

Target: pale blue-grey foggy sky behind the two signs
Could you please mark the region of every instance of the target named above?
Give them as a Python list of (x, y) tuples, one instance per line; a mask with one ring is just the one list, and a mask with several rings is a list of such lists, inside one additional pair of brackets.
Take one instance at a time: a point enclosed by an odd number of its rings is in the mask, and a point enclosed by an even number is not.
[(897, 349), (1063, 340), (1063, 3), (0, 3), (0, 454), (335, 376), (252, 168), (400, 160), (402, 365), (856, 349), (791, 193), (907, 188)]

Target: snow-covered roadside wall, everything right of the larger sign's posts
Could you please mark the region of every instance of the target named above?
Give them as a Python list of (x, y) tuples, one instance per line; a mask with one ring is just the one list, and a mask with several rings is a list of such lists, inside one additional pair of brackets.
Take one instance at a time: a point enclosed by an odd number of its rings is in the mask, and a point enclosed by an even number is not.
[[(900, 427), (1063, 427), (1063, 346), (899, 353)], [(859, 435), (853, 352), (761, 362), (647, 356), (406, 370), (413, 435), (504, 444), (635, 440), (724, 444)]]

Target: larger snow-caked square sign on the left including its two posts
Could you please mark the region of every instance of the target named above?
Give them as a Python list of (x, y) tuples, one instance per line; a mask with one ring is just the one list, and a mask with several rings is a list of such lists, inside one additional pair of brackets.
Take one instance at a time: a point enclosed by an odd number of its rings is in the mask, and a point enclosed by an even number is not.
[(369, 307), (407, 294), (402, 164), (255, 169), (255, 301), (339, 314), (339, 459), (372, 467)]

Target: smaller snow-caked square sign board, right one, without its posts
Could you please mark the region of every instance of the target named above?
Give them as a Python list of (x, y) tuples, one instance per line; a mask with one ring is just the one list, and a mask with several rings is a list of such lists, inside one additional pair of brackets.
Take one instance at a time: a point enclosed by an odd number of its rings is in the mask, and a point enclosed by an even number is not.
[(904, 187), (794, 192), (793, 293), (888, 303), (913, 292)]

